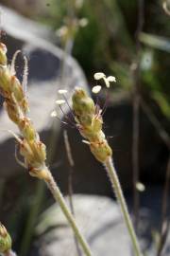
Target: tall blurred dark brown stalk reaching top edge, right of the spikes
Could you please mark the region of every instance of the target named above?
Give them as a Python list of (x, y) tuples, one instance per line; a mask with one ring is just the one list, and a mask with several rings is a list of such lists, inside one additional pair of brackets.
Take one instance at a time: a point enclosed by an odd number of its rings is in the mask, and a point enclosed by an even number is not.
[(139, 35), (144, 27), (144, 0), (138, 0), (138, 22), (136, 30), (136, 68), (133, 72), (133, 132), (132, 132), (132, 170), (133, 170), (133, 209), (134, 209), (134, 228), (138, 231), (140, 195), (136, 185), (139, 182), (139, 133), (140, 133), (140, 50), (141, 43)]

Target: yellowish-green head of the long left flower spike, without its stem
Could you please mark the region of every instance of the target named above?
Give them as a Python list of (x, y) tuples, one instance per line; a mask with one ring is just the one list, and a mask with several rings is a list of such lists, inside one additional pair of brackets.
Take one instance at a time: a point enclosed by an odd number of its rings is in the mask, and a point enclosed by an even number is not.
[[(40, 141), (32, 122), (26, 117), (28, 103), (24, 88), (16, 78), (14, 63), (18, 52), (14, 55), (12, 66), (7, 63), (7, 48), (0, 44), (0, 93), (5, 98), (4, 105), (11, 119), (19, 128), (23, 139), (19, 139), (20, 153), (25, 158), (25, 166), (30, 172), (39, 173), (42, 178), (44, 170), (46, 149)], [(26, 71), (27, 72), (27, 71)], [(36, 172), (35, 172), (36, 170)]]

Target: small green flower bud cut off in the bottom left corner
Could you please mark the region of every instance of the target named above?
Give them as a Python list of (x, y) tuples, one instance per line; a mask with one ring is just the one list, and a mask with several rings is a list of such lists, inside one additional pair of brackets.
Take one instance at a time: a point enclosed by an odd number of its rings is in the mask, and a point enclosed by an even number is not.
[(0, 253), (7, 252), (11, 249), (11, 238), (7, 229), (0, 224)]

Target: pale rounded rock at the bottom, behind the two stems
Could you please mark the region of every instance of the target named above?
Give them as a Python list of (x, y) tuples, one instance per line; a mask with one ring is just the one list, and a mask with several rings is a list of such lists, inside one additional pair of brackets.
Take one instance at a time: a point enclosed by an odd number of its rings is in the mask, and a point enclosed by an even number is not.
[[(107, 197), (75, 195), (76, 221), (92, 247), (93, 255), (130, 256), (130, 241), (117, 205)], [(36, 242), (38, 251), (31, 255), (75, 256), (72, 230), (57, 205), (42, 214)], [(35, 253), (35, 254), (34, 254)], [(37, 254), (38, 253), (38, 254)]]

